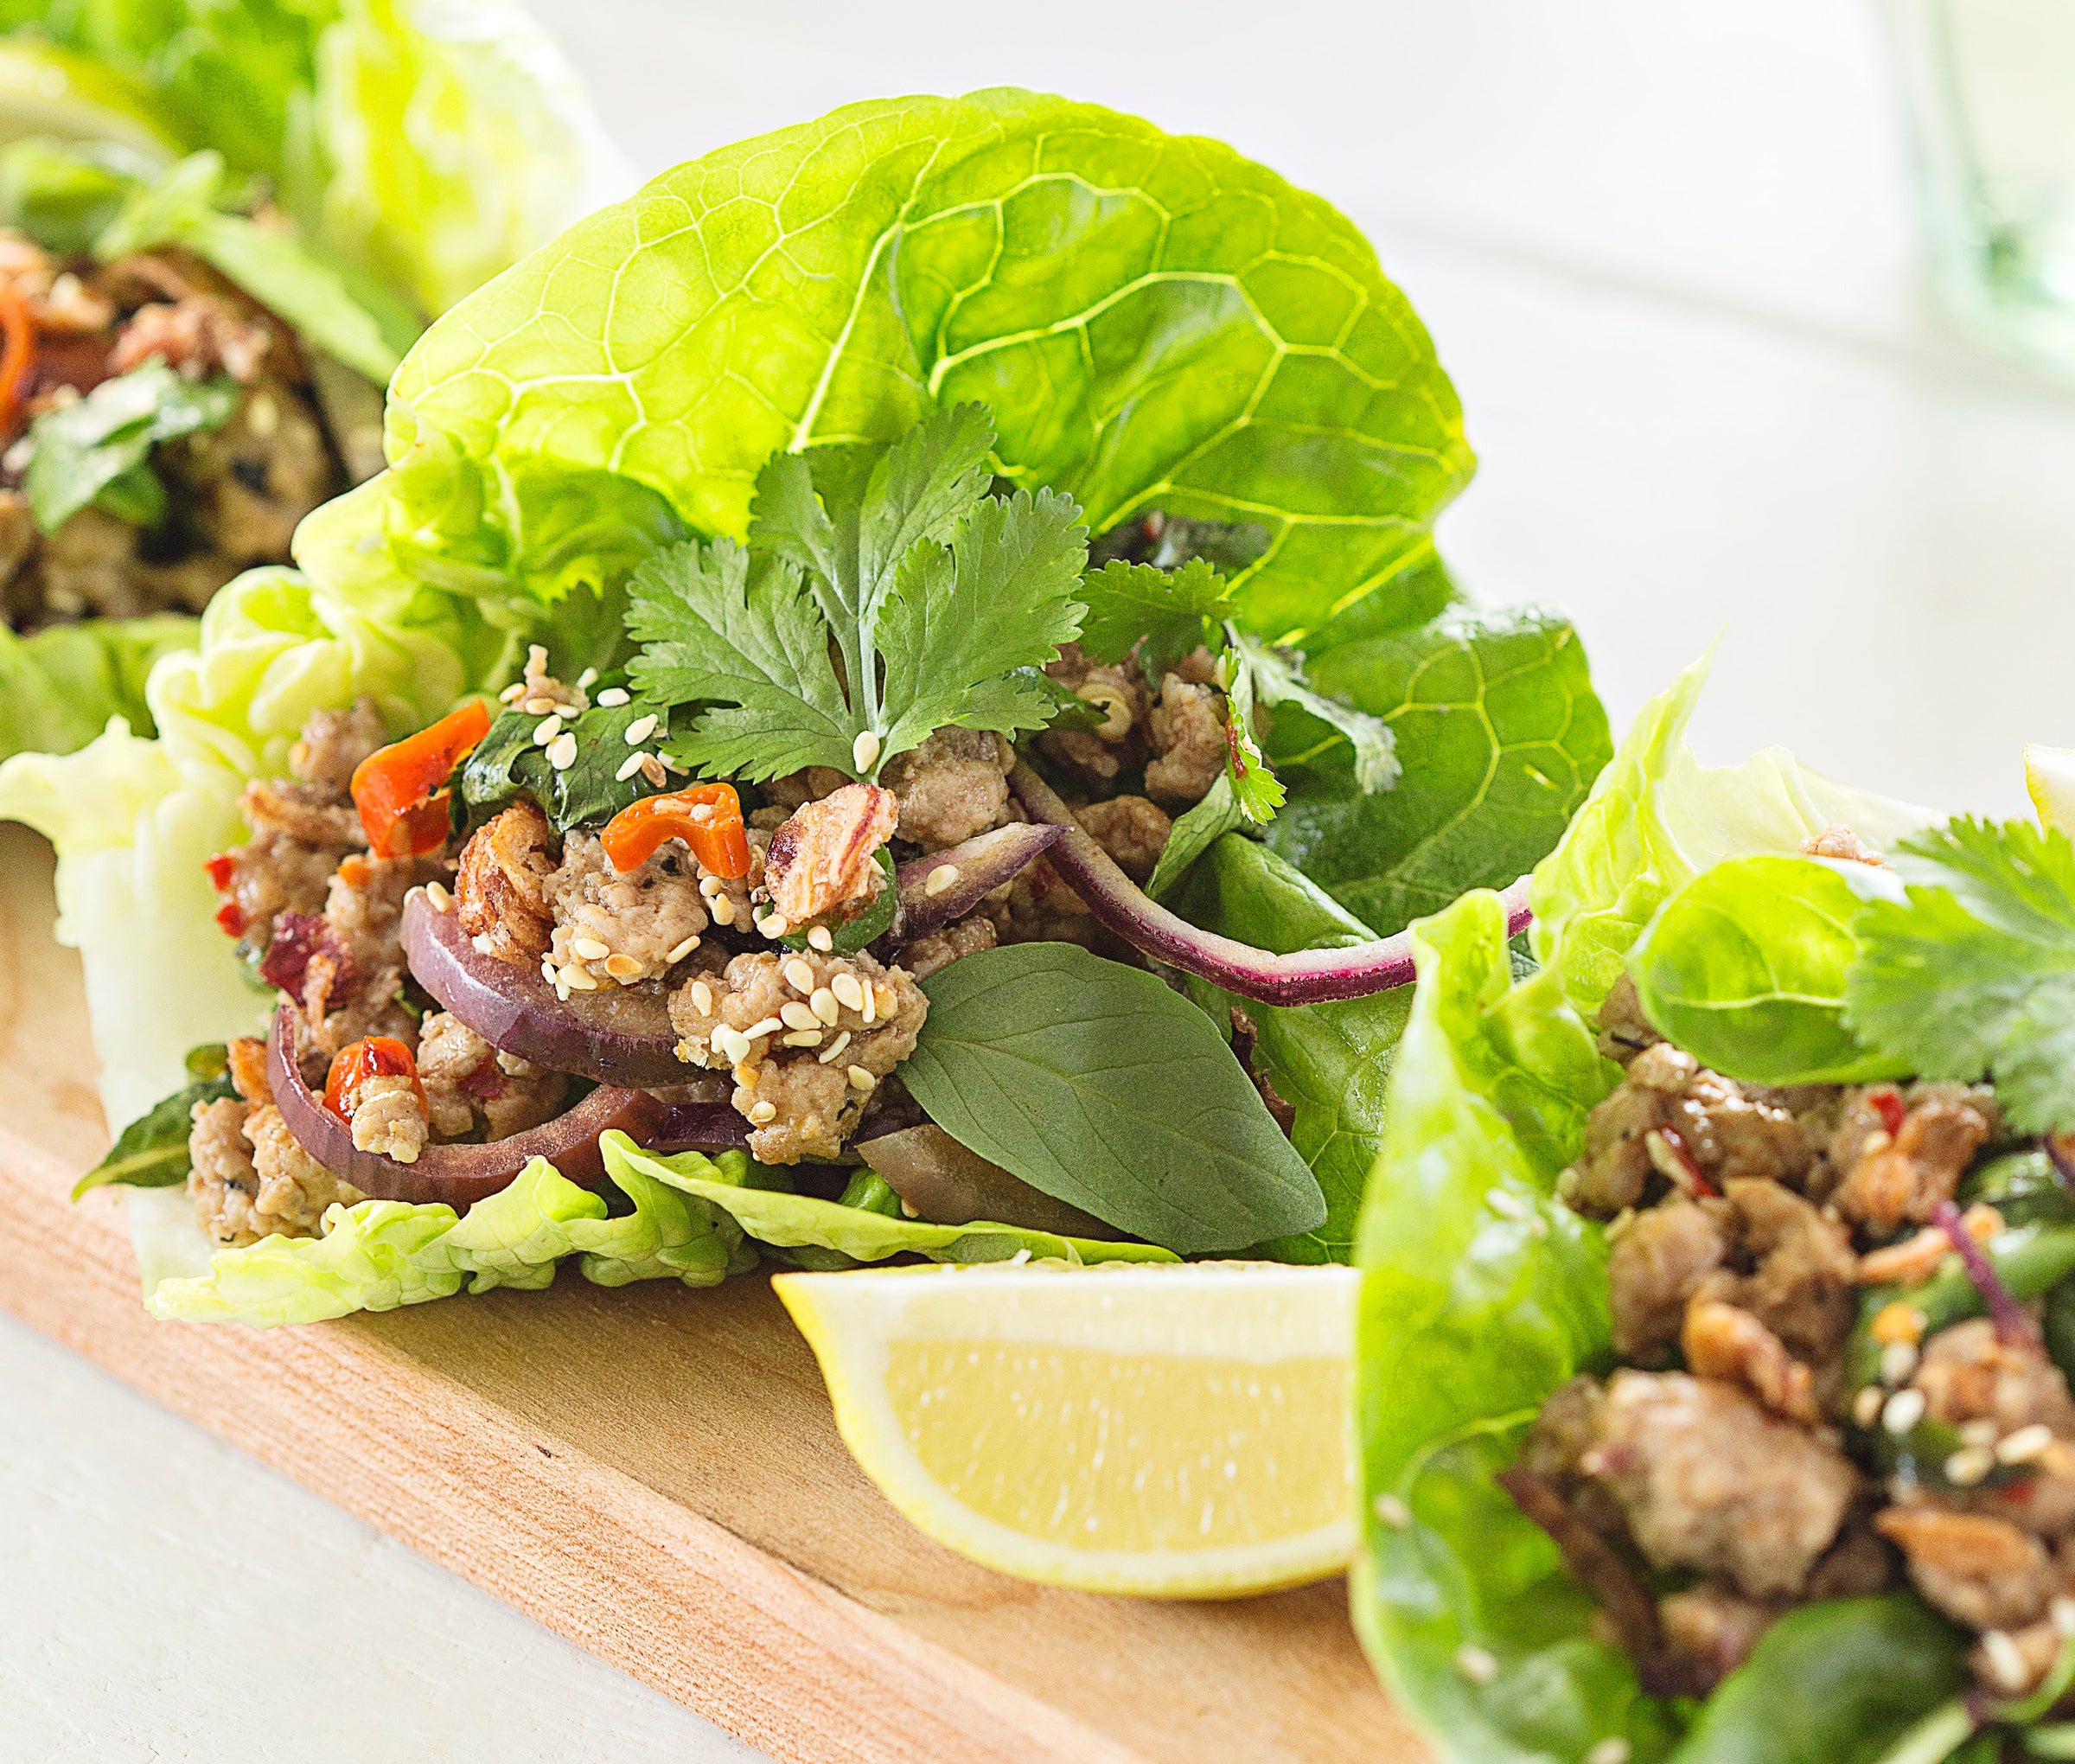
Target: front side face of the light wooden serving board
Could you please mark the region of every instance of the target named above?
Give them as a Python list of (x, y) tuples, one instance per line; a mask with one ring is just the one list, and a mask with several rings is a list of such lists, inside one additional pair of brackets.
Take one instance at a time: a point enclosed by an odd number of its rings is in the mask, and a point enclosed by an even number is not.
[(747, 1743), (799, 1764), (1139, 1756), (351, 1322), (154, 1322), (118, 1206), (68, 1187), (0, 1131), (0, 1305)]

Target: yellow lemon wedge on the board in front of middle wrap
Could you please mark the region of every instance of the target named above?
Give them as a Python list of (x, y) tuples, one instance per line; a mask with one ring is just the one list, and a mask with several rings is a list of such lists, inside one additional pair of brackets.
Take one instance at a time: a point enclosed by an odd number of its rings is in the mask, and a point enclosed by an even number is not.
[(872, 1268), (772, 1285), (907, 1519), (1046, 1586), (1237, 1598), (1355, 1548), (1351, 1268)]

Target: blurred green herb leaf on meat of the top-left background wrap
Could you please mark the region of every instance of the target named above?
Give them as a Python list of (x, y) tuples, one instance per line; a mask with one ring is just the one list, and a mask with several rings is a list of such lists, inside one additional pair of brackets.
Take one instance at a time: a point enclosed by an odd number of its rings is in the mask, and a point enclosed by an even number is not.
[[(56, 533), (110, 492), (122, 519), (154, 523), (164, 513), (164, 490), (145, 467), (151, 448), (174, 436), (218, 428), (237, 403), (239, 388), (230, 380), (197, 384), (164, 361), (147, 361), (104, 380), (77, 405), (44, 411), (29, 425), (29, 473), (23, 484), (37, 527)], [(141, 488), (145, 479), (149, 490)], [(143, 515), (149, 521), (141, 521)]]

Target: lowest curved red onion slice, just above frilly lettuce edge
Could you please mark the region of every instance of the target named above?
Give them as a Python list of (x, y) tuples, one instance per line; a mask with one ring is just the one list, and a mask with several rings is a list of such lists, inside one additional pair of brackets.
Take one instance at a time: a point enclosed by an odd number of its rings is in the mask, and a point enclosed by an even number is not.
[(546, 1158), (577, 1187), (602, 1189), (606, 1164), (598, 1152), (598, 1135), (618, 1127), (627, 1137), (645, 1143), (668, 1114), (666, 1106), (645, 1090), (600, 1085), (566, 1114), (510, 1139), (494, 1139), (488, 1146), (427, 1146), (415, 1164), (398, 1164), (394, 1158), (355, 1146), (353, 1129), (303, 1083), (303, 1073), (295, 1065), (295, 1027), (286, 1007), (274, 1013), (266, 1069), (280, 1119), (311, 1158), (365, 1195), (413, 1206), (442, 1200), (454, 1208), (471, 1206), (508, 1187), (529, 1158)]

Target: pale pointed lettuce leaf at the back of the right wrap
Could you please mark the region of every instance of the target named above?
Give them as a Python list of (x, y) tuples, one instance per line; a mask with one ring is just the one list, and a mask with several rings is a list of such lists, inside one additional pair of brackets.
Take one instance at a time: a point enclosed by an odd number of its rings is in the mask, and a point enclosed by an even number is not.
[(1702, 766), (1685, 728), (1708, 681), (1699, 660), (1643, 706), (1558, 847), (1536, 865), (1536, 961), (1587, 1017), (1629, 946), (1683, 882), (1724, 857), (1793, 855), (1826, 826), (1876, 851), (1928, 826), (1928, 809), (1834, 784), (1782, 747), (1741, 766)]

